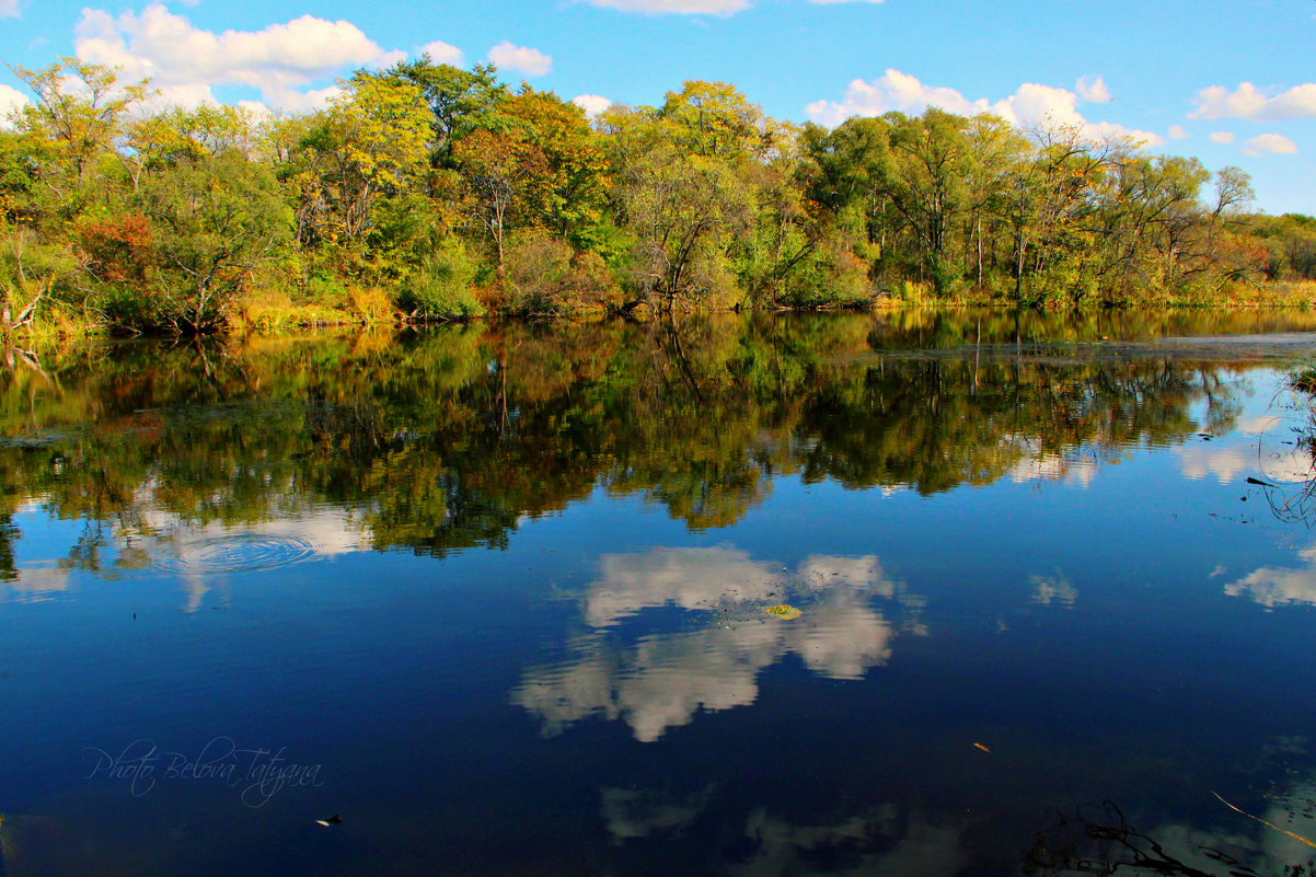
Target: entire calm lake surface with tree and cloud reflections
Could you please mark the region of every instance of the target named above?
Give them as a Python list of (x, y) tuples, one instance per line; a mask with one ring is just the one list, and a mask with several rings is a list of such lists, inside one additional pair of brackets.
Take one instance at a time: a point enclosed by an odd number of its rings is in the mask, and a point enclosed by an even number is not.
[(16, 357), (0, 872), (1288, 873), (1313, 345), (909, 313)]

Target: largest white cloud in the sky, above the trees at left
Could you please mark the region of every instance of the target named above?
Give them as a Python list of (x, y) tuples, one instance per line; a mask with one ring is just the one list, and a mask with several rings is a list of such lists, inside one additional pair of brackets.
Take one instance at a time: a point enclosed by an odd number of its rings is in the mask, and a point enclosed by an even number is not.
[(303, 91), (313, 80), (405, 58), (386, 53), (350, 21), (301, 16), (262, 30), (216, 34), (158, 3), (118, 17), (84, 9), (75, 33), (79, 58), (120, 66), (125, 80), (150, 78), (162, 100), (180, 104), (213, 100), (213, 86), (238, 84), (259, 90), (272, 107), (308, 109), (340, 91)]

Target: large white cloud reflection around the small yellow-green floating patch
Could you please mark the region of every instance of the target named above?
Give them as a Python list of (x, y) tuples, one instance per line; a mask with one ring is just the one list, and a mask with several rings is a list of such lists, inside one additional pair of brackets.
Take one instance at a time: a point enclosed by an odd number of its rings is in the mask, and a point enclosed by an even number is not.
[[(736, 548), (657, 548), (604, 556), (600, 571), (584, 598), (595, 632), (575, 644), (576, 657), (532, 668), (512, 693), (546, 732), (599, 715), (626, 722), (647, 743), (699, 710), (753, 703), (759, 670), (787, 653), (833, 679), (862, 678), (891, 656), (895, 629), (867, 603), (894, 597), (896, 586), (871, 556), (812, 556), (788, 575)], [(799, 603), (800, 618), (762, 611), (787, 599)], [(604, 629), (667, 604), (703, 610), (701, 627), (653, 631), (629, 644)]]

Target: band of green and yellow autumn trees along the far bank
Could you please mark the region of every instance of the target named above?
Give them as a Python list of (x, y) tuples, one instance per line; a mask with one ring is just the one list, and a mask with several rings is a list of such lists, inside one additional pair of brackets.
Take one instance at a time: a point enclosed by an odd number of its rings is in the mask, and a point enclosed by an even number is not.
[(149, 83), (68, 58), (13, 70), (36, 101), (0, 130), (5, 333), (1230, 302), (1316, 278), (1316, 220), (1249, 213), (1240, 169), (1063, 126), (796, 126), (709, 82), (591, 122), (428, 57), (284, 116), (153, 109)]

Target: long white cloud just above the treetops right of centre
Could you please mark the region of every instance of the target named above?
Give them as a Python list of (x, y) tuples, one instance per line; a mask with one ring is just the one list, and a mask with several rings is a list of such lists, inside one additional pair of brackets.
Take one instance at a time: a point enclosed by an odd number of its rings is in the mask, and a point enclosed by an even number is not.
[(926, 86), (916, 76), (899, 70), (887, 70), (880, 79), (851, 82), (844, 100), (817, 100), (805, 107), (804, 112), (813, 121), (838, 125), (851, 116), (880, 116), (892, 109), (917, 115), (928, 107), (937, 107), (961, 116), (995, 113), (1020, 126), (1073, 126), (1094, 140), (1132, 137), (1146, 146), (1159, 146), (1165, 142), (1163, 137), (1152, 132), (1107, 121), (1091, 122), (1078, 112), (1078, 99), (1076, 93), (1066, 88), (1025, 82), (1013, 95), (1003, 100), (990, 101), (986, 97), (969, 100), (954, 88)]

